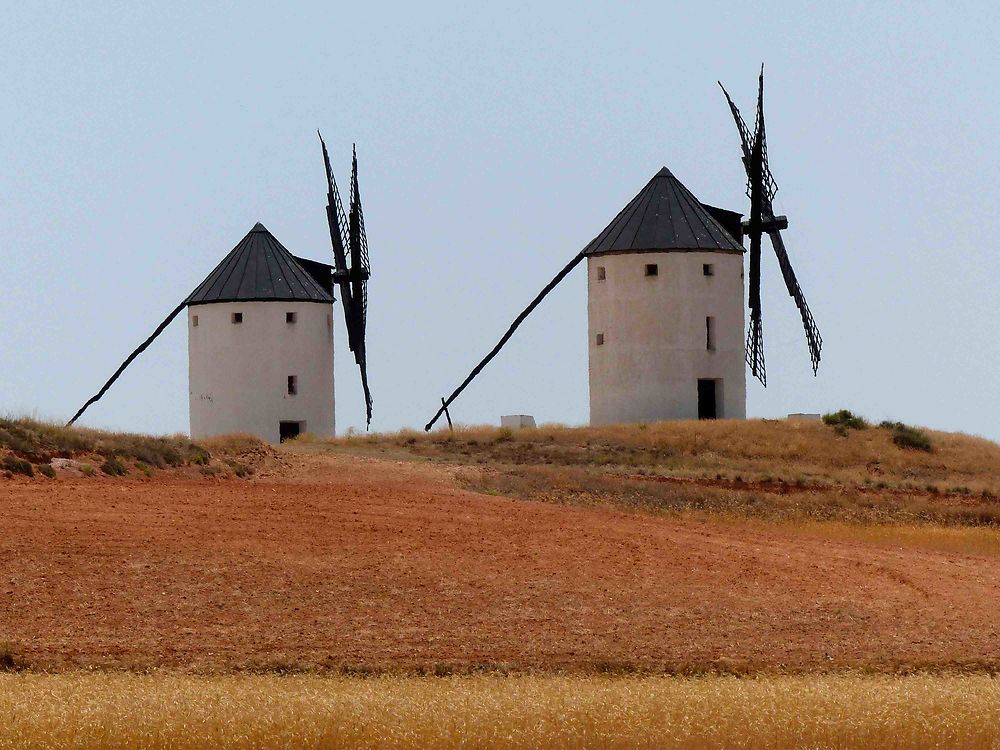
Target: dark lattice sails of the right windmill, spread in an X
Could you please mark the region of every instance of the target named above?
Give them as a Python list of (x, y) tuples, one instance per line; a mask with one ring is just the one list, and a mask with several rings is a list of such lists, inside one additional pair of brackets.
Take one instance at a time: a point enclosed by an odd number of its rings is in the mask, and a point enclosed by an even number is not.
[(747, 329), (747, 364), (750, 371), (760, 382), (767, 386), (767, 371), (764, 367), (764, 332), (761, 325), (760, 304), (760, 252), (761, 240), (766, 232), (771, 238), (774, 254), (778, 256), (778, 266), (785, 280), (788, 294), (795, 300), (795, 306), (802, 317), (802, 326), (806, 333), (806, 344), (812, 359), (813, 375), (819, 368), (820, 352), (823, 348), (823, 337), (819, 333), (816, 321), (813, 320), (805, 295), (795, 278), (795, 271), (788, 260), (788, 251), (781, 237), (781, 230), (788, 228), (788, 217), (775, 216), (773, 201), (778, 192), (771, 169), (767, 164), (767, 136), (764, 130), (764, 66), (760, 68), (760, 79), (757, 88), (757, 119), (753, 133), (747, 127), (739, 109), (733, 103), (732, 97), (719, 82), (722, 93), (726, 95), (729, 109), (736, 121), (743, 149), (743, 165), (747, 173), (747, 197), (750, 198), (750, 219), (743, 224), (743, 229), (750, 235), (750, 325)]

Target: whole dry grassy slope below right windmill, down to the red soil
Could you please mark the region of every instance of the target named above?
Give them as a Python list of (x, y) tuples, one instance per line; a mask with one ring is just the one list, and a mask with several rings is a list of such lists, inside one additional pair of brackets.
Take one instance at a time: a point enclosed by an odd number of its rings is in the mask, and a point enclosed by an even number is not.
[(912, 450), (899, 445), (895, 423), (886, 425), (837, 430), (749, 420), (465, 427), (350, 435), (320, 445), (474, 467), (460, 471), (459, 480), (492, 494), (764, 521), (826, 538), (1000, 552), (1000, 445), (930, 432), (932, 450)]

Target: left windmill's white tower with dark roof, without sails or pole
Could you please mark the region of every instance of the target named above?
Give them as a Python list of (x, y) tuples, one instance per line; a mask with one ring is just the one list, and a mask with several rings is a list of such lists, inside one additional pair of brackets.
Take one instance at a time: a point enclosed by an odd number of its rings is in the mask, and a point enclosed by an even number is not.
[(296, 258), (258, 223), (195, 289), (192, 438), (334, 434), (331, 270)]

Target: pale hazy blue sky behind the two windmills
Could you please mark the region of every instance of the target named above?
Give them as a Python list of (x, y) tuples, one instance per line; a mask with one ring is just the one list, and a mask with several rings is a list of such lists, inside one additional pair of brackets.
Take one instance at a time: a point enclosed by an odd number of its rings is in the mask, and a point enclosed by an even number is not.
[[(1000, 439), (995, 3), (182, 5), (4, 11), (0, 412), (68, 418), (258, 220), (329, 261), (321, 128), (344, 186), (358, 143), (373, 427), (421, 426), (661, 166), (746, 212), (716, 80), (749, 114), (763, 61), (775, 209), (825, 346), (813, 378), (765, 255), (748, 413)], [(84, 423), (186, 431), (186, 335)], [(336, 335), (338, 426), (363, 426), (339, 308)], [(453, 416), (587, 411), (578, 268)]]

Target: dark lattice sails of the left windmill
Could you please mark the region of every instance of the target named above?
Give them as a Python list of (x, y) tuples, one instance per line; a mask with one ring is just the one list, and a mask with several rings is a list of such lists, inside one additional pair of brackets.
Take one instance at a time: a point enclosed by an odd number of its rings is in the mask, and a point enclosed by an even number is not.
[[(317, 134), (318, 131), (317, 131)], [(323, 136), (323, 165), (326, 168), (327, 206), (326, 218), (330, 225), (330, 242), (333, 245), (333, 281), (340, 287), (344, 305), (344, 322), (347, 325), (347, 342), (354, 352), (354, 361), (361, 370), (361, 387), (365, 393), (367, 426), (372, 423), (372, 394), (368, 388), (368, 361), (365, 353), (365, 327), (368, 318), (368, 279), (371, 266), (368, 261), (368, 237), (365, 234), (365, 217), (361, 209), (361, 190), (358, 187), (358, 152), (354, 149), (351, 162), (350, 213), (344, 213), (340, 190), (330, 167), (330, 154)], [(347, 256), (350, 255), (350, 267)]]

